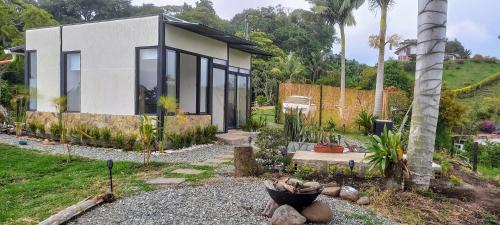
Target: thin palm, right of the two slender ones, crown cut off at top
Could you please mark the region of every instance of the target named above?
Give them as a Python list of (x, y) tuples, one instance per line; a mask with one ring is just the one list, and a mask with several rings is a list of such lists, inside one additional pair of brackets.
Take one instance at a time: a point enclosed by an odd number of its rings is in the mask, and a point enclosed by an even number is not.
[(370, 8), (380, 8), (380, 30), (378, 35), (378, 66), (377, 82), (375, 85), (375, 105), (373, 115), (382, 116), (382, 95), (384, 92), (384, 55), (385, 55), (385, 33), (387, 30), (387, 9), (395, 0), (370, 0)]

